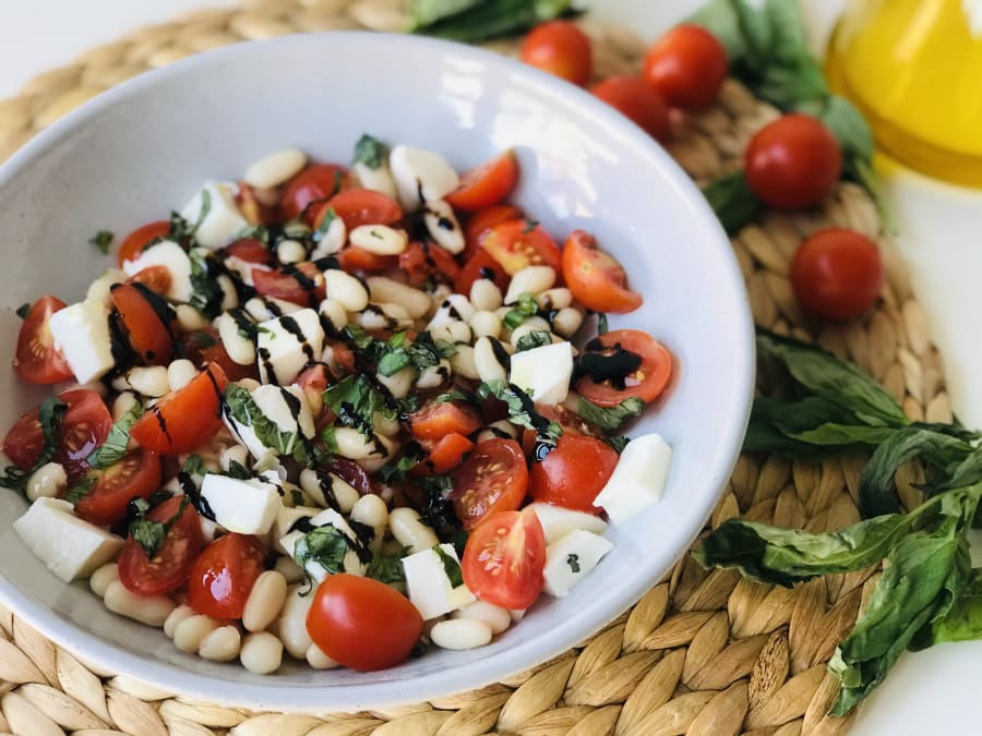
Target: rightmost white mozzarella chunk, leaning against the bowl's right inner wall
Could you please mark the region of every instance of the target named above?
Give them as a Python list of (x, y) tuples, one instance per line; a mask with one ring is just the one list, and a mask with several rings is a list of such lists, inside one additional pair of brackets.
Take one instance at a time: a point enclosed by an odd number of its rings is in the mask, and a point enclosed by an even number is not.
[(611, 523), (624, 523), (658, 503), (672, 462), (672, 448), (658, 434), (627, 443), (594, 506), (607, 511)]

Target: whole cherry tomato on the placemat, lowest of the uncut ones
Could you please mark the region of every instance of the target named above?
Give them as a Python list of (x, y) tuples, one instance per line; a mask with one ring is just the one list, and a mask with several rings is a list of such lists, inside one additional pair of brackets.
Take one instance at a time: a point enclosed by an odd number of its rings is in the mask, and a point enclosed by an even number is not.
[(883, 279), (876, 243), (845, 228), (819, 230), (791, 261), (791, 289), (798, 302), (831, 322), (866, 313), (879, 298)]

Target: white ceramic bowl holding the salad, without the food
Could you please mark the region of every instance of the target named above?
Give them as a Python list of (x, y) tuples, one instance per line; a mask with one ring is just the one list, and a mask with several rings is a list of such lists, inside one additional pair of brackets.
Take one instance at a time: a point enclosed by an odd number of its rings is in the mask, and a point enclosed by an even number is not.
[[(674, 448), (664, 498), (621, 529), (613, 552), (565, 599), (543, 600), (491, 645), (431, 651), (373, 674), (286, 665), (273, 676), (178, 651), (118, 617), (84, 583), (64, 586), (20, 542), (25, 502), (0, 492), (0, 599), (82, 657), (195, 699), (254, 709), (358, 710), (491, 683), (573, 647), (637, 601), (684, 553), (735, 461), (753, 381), (740, 270), (698, 190), (639, 129), (587, 93), (517, 62), (429, 39), (363, 34), (244, 44), (178, 62), (99, 96), (0, 169), (0, 345), (14, 310), (71, 302), (109, 263), (86, 240), (121, 237), (181, 206), (205, 179), (240, 177), (298, 146), (346, 161), (362, 132), (442, 152), (459, 170), (514, 146), (514, 200), (558, 238), (592, 231), (628, 269), (644, 307), (613, 326), (656, 335), (675, 358), (663, 399), (633, 430)], [(8, 352), (10, 354), (10, 352)], [(0, 431), (44, 391), (0, 367)]]

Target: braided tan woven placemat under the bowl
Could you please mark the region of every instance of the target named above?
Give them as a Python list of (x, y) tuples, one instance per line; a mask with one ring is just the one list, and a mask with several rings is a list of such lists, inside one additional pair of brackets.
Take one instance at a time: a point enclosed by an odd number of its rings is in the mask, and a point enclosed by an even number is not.
[[(0, 156), (99, 92), (181, 57), (243, 39), (298, 32), (403, 27), (399, 0), (259, 0), (144, 28), (28, 83), (0, 102)], [(622, 28), (589, 20), (598, 76), (635, 72), (644, 46)], [(514, 44), (493, 48), (514, 52)], [(672, 155), (699, 182), (740, 165), (747, 140), (777, 117), (728, 82), (718, 105), (679, 123)], [(887, 280), (878, 306), (845, 326), (805, 317), (788, 281), (791, 255), (813, 231), (855, 229), (883, 249)], [(870, 371), (911, 419), (951, 419), (941, 357), (905, 266), (884, 237), (876, 207), (843, 183), (818, 209), (768, 214), (733, 239), (754, 318), (815, 339)], [(712, 515), (715, 528), (743, 515), (824, 531), (859, 519), (860, 467), (743, 456)], [(914, 467), (898, 473), (917, 500)], [(61, 734), (242, 734), (289, 736), (527, 736), (602, 734), (840, 734), (851, 717), (826, 712), (837, 683), (826, 662), (852, 627), (876, 580), (864, 572), (816, 579), (794, 590), (708, 572), (686, 555), (668, 578), (604, 630), (532, 671), (481, 690), (352, 715), (255, 714), (191, 702), (87, 666), (0, 608), (0, 732)]]

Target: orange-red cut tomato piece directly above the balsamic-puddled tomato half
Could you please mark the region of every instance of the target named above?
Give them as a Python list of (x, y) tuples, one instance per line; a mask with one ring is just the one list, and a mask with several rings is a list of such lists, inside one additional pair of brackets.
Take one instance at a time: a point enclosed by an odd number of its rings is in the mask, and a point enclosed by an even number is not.
[(627, 288), (623, 266), (583, 230), (570, 233), (563, 245), (563, 278), (573, 295), (597, 312), (633, 312), (644, 302)]

